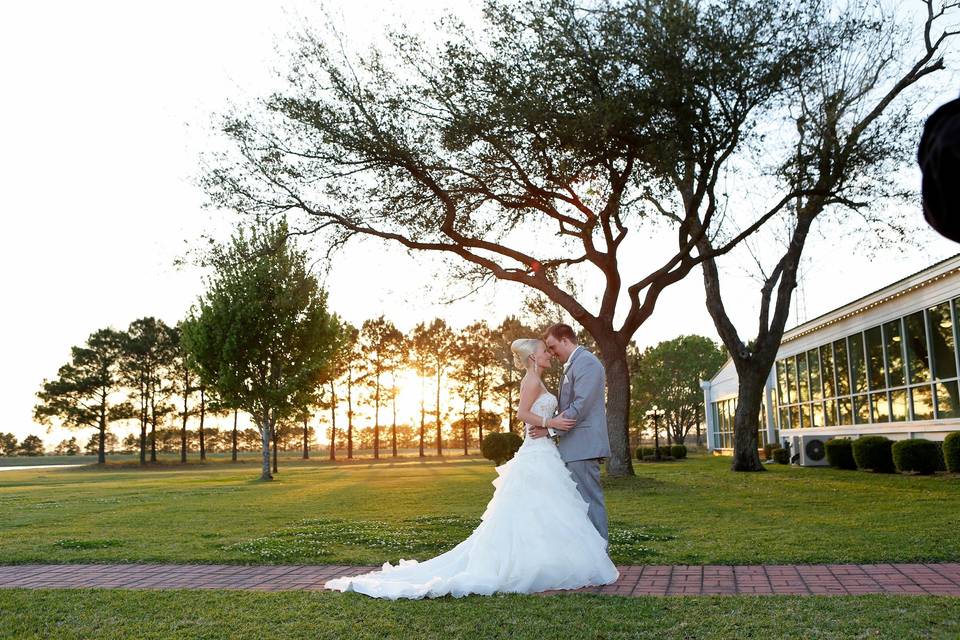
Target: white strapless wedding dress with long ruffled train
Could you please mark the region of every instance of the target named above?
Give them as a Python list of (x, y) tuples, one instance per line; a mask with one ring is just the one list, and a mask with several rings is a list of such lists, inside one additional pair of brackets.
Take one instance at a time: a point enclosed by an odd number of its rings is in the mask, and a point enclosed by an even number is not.
[[(556, 397), (544, 392), (531, 411), (553, 416), (556, 407)], [(480, 525), (450, 551), (424, 562), (387, 562), (325, 586), (396, 600), (577, 589), (619, 577), (553, 440), (525, 437), (497, 474)]]

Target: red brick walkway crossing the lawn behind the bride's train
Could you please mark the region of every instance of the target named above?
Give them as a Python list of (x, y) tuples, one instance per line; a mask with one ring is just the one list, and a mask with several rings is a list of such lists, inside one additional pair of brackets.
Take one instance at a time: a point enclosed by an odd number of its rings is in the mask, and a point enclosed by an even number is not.
[[(335, 565), (0, 565), (0, 588), (322, 590), (374, 567)], [(960, 596), (960, 563), (785, 566), (621, 566), (620, 579), (587, 593), (619, 595)], [(560, 592), (547, 592), (560, 593)]]

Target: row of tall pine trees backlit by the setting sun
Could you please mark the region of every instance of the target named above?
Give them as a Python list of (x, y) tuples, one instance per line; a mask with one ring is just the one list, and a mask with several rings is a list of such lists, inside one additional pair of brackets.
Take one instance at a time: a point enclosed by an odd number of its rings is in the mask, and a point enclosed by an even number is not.
[[(420, 455), (442, 455), (451, 446), (462, 447), (466, 454), (479, 446), (485, 432), (516, 429), (522, 372), (513, 365), (510, 343), (537, 335), (538, 329), (515, 317), (494, 327), (479, 321), (459, 331), (438, 318), (406, 334), (383, 316), (360, 327), (345, 324), (346, 345), (330, 375), (309, 396), (311, 404), (277, 424), (274, 449), (288, 449), (299, 441), (304, 457), (309, 457), (322, 425), (332, 441), (331, 459), (338, 449), (347, 458), (355, 449), (371, 449), (379, 458), (411, 446)], [(43, 381), (35, 418), (48, 425), (95, 429), (85, 451), (96, 453), (101, 463), (108, 451), (116, 450), (138, 451), (141, 464), (156, 462), (158, 451), (173, 450), (175, 434), (182, 462), (191, 452), (206, 459), (211, 432), (216, 438), (213, 449), (227, 448), (234, 460), (238, 451), (255, 449), (251, 440), (256, 432), (238, 426), (240, 410), (201, 384), (181, 330), (182, 323), (170, 326), (145, 317), (125, 330), (95, 331), (85, 344), (71, 349), (70, 361), (54, 379)], [(416, 388), (401, 388), (404, 372), (415, 374)], [(405, 424), (409, 416), (398, 416), (401, 393), (418, 398), (419, 415), (412, 425)], [(233, 428), (227, 433), (211, 429), (211, 417), (227, 418)], [(131, 423), (136, 432), (121, 447), (110, 429)], [(77, 449), (70, 441), (58, 446), (64, 453)]]

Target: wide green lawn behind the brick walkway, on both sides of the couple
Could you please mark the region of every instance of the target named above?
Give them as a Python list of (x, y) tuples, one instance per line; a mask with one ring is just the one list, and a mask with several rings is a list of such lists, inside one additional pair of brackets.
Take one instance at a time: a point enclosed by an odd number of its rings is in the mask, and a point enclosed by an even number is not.
[[(619, 563), (960, 559), (960, 478), (770, 466), (642, 464), (606, 479)], [(426, 558), (462, 540), (493, 465), (449, 457), (38, 469), (0, 473), (4, 563), (355, 563)]]

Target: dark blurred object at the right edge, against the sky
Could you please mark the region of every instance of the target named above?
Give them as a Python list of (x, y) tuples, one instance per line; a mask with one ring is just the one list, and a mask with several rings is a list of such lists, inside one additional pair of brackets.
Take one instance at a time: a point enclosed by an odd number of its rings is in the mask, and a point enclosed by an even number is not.
[(940, 235), (960, 242), (960, 99), (927, 120), (917, 161), (923, 171), (923, 216)]

